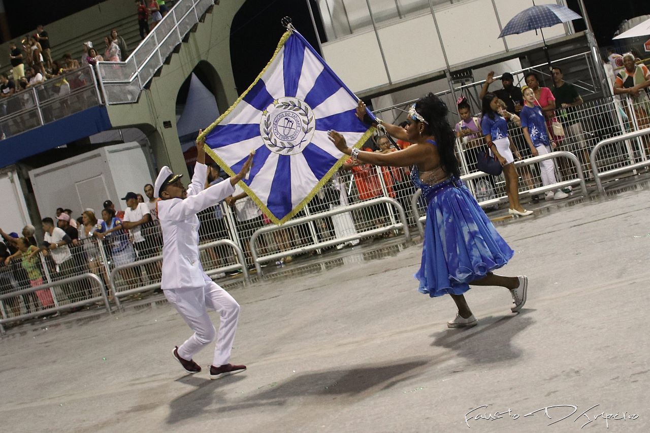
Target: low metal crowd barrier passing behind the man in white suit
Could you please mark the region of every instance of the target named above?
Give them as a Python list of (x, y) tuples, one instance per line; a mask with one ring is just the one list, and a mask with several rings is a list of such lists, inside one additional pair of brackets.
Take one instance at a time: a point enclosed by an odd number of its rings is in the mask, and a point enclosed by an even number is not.
[[(229, 272), (231, 270), (241, 269), (244, 275), (244, 282), (250, 281), (248, 269), (246, 268), (246, 261), (244, 261), (244, 253), (242, 252), (241, 248), (237, 246), (237, 244), (233, 243), (233, 241), (230, 241), (229, 239), (221, 239), (220, 241), (200, 244), (199, 252), (203, 250), (207, 250), (207, 248), (214, 248), (215, 246), (221, 246), (221, 245), (229, 246), (233, 248), (235, 254), (237, 255), (237, 259), (239, 260), (239, 263), (206, 270), (205, 273), (208, 276), (213, 276), (216, 274), (220, 274), (221, 272)], [(153, 283), (134, 287), (133, 289), (116, 290), (116, 288), (118, 287), (118, 285), (116, 284), (116, 276), (120, 275), (120, 270), (135, 269), (144, 265), (148, 265), (149, 263), (156, 263), (158, 261), (162, 261), (162, 256), (149, 257), (148, 259), (134, 261), (133, 263), (129, 263), (128, 265), (116, 266), (112, 270), (110, 270), (110, 287), (113, 287), (114, 289), (113, 299), (115, 301), (115, 305), (117, 306), (117, 308), (122, 309), (122, 302), (120, 302), (120, 298), (122, 297), (134, 295), (135, 293), (142, 293), (149, 290), (159, 289), (161, 287), (161, 281), (157, 280)]]

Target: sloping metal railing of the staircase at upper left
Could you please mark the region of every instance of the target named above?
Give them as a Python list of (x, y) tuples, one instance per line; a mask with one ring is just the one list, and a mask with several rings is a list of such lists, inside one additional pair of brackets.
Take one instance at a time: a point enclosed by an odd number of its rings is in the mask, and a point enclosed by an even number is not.
[(179, 0), (124, 62), (98, 62), (107, 104), (135, 103), (140, 92), (214, 0)]

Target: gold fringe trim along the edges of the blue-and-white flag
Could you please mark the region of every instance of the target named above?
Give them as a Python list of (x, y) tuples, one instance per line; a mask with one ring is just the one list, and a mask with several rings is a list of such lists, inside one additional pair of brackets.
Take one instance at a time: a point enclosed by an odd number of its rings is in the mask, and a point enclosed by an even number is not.
[[(212, 129), (216, 125), (220, 124), (220, 122), (222, 122), (222, 120), (224, 120), (224, 118), (226, 118), (226, 116), (228, 114), (230, 114), (230, 112), (233, 111), (233, 109), (235, 109), (235, 107), (237, 107), (237, 104), (239, 104), (240, 101), (242, 101), (242, 99), (244, 99), (246, 97), (246, 94), (248, 94), (248, 92), (250, 92), (250, 90), (253, 88), (253, 86), (255, 86), (257, 84), (257, 81), (259, 81), (261, 79), (262, 75), (264, 75), (264, 73), (266, 72), (268, 67), (276, 59), (280, 49), (282, 49), (285, 42), (287, 42), (287, 39), (289, 39), (289, 36), (291, 36), (291, 31), (286, 31), (282, 35), (282, 37), (280, 38), (280, 41), (278, 43), (278, 47), (276, 48), (276, 51), (273, 53), (273, 57), (271, 57), (271, 60), (268, 60), (268, 63), (266, 64), (266, 66), (264, 67), (262, 72), (260, 72), (259, 75), (257, 75), (257, 78), (255, 78), (255, 81), (253, 81), (253, 83), (250, 86), (248, 86), (248, 88), (246, 89), (246, 92), (242, 93), (241, 96), (239, 96), (239, 98), (237, 98), (237, 101), (235, 101), (235, 103), (233, 103), (233, 105), (231, 105), (231, 107), (229, 109), (227, 109), (224, 112), (224, 114), (219, 116), (219, 118), (217, 120), (215, 120), (211, 125), (209, 125), (209, 127), (205, 128), (203, 133), (201, 133), (201, 135), (199, 135), (199, 137), (197, 139), (205, 138), (205, 136), (208, 135), (210, 133), (210, 131), (212, 131)], [(363, 146), (363, 144), (368, 140), (368, 138), (372, 137), (372, 134), (374, 134), (374, 131), (375, 131), (374, 127), (370, 127), (369, 129), (367, 129), (367, 131), (365, 131), (365, 133), (363, 133), (361, 138), (352, 147), (353, 148), (360, 148), (361, 146)], [(230, 176), (235, 176), (236, 175), (236, 173), (233, 172), (233, 170), (231, 170), (231, 168), (226, 164), (226, 162), (223, 159), (221, 159), (220, 157), (218, 157), (218, 155), (214, 152), (214, 150), (212, 148), (210, 148), (210, 146), (205, 144), (204, 147), (205, 147), (206, 153), (208, 155), (210, 155), (210, 157), (213, 159), (213, 161), (215, 163), (219, 164), (219, 166), (221, 168), (223, 168), (224, 171), (227, 174), (229, 174)], [(339, 159), (339, 161), (337, 161), (337, 163), (334, 164), (330, 168), (330, 170), (325, 174), (325, 176), (323, 176), (320, 179), (320, 181), (318, 181), (316, 186), (311, 190), (311, 192), (309, 192), (307, 197), (305, 197), (304, 200), (302, 200), (302, 202), (298, 203), (298, 205), (296, 205), (296, 207), (294, 207), (291, 210), (291, 212), (289, 212), (287, 215), (285, 215), (285, 217), (283, 217), (282, 219), (278, 219), (275, 215), (273, 215), (273, 213), (271, 213), (271, 211), (268, 209), (268, 207), (266, 207), (266, 205), (264, 203), (262, 203), (261, 200), (259, 200), (259, 198), (257, 198), (257, 194), (255, 194), (255, 192), (253, 192), (253, 190), (251, 190), (248, 187), (248, 185), (246, 185), (246, 183), (244, 183), (244, 181), (239, 181), (239, 183), (237, 183), (237, 185), (239, 185), (239, 187), (242, 190), (244, 190), (244, 192), (246, 192), (246, 194), (248, 194), (248, 196), (253, 200), (253, 202), (255, 202), (255, 204), (257, 206), (259, 206), (259, 209), (261, 209), (261, 211), (264, 213), (264, 215), (266, 215), (266, 217), (268, 217), (269, 220), (271, 220), (272, 222), (274, 222), (275, 224), (278, 224), (278, 226), (280, 226), (281, 224), (284, 224), (285, 222), (287, 222), (288, 220), (293, 218), (298, 212), (302, 211), (302, 209), (305, 207), (305, 205), (307, 205), (307, 203), (311, 202), (311, 199), (313, 199), (314, 196), (316, 194), (318, 194), (318, 191), (323, 187), (323, 185), (325, 185), (325, 183), (327, 183), (327, 181), (330, 180), (330, 177), (333, 176), (333, 174), (335, 172), (337, 172), (337, 170), (339, 170), (339, 168), (349, 158), (350, 157), (348, 155), (343, 155), (343, 157), (341, 157)]]

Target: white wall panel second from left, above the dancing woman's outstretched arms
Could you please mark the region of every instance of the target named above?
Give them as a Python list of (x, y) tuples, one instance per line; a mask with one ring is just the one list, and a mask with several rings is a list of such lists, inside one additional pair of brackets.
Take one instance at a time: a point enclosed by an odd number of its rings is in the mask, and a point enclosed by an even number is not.
[(431, 15), (402, 20), (378, 32), (393, 83), (445, 69), (445, 57)]

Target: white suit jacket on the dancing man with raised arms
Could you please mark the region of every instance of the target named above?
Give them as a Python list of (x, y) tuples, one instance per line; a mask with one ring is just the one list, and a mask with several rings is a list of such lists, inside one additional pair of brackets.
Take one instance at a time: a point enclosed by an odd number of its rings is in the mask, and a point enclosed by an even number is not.
[(199, 218), (196, 214), (224, 200), (235, 190), (230, 181), (203, 189), (207, 166), (196, 163), (187, 198), (158, 202), (162, 230), (162, 290), (203, 287), (211, 281), (199, 259)]

